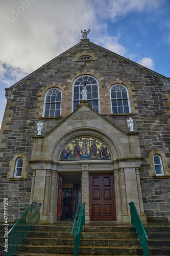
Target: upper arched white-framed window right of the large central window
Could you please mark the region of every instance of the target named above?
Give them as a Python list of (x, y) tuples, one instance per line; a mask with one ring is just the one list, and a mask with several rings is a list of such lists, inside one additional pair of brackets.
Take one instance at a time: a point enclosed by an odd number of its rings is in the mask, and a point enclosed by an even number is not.
[(122, 84), (110, 88), (112, 114), (131, 113), (128, 90)]

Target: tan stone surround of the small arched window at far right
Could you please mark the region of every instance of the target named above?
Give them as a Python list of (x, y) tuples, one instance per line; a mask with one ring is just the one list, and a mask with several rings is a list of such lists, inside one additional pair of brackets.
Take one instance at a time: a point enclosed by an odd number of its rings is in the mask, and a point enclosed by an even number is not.
[[(159, 155), (161, 157), (164, 176), (156, 176), (155, 165), (153, 160), (154, 155)], [(152, 176), (153, 179), (169, 179), (169, 175), (170, 175), (170, 169), (168, 168), (169, 159), (165, 156), (165, 154), (162, 151), (160, 150), (151, 151), (147, 160), (150, 163), (150, 176)]]

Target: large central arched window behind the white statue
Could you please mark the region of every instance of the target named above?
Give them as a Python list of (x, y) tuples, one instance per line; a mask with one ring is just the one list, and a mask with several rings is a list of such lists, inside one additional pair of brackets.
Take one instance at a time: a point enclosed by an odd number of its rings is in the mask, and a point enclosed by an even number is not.
[(82, 101), (81, 91), (85, 83), (87, 88), (87, 101), (91, 105), (92, 109), (99, 113), (98, 81), (92, 76), (80, 76), (75, 80), (72, 90), (72, 111), (75, 111), (80, 104), (80, 101)]

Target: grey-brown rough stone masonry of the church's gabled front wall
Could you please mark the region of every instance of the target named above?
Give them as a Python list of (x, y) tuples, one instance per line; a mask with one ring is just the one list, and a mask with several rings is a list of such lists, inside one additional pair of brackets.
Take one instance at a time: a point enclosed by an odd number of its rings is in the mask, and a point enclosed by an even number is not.
[[(92, 60), (78, 60), (88, 55)], [(139, 133), (142, 164), (139, 169), (144, 212), (148, 222), (170, 220), (170, 79), (137, 63), (89, 42), (81, 43), (54, 58), (41, 68), (6, 89), (8, 99), (1, 128), (1, 202), (8, 197), (8, 221), (15, 221), (30, 203), (32, 169), (25, 166), (26, 176), (13, 179), (13, 158), (17, 154), (31, 160), (36, 124), (43, 121), (42, 135), (50, 132), (71, 114), (72, 83), (80, 75), (94, 76), (99, 82), (100, 114), (129, 133), (127, 118), (134, 120)], [(122, 83), (129, 91), (131, 114), (111, 114), (109, 89)], [(45, 92), (50, 88), (62, 91), (61, 116), (42, 117)], [(156, 177), (152, 153), (163, 159), (164, 177)], [(1, 212), (3, 214), (3, 211)], [(4, 216), (1, 215), (1, 220)]]

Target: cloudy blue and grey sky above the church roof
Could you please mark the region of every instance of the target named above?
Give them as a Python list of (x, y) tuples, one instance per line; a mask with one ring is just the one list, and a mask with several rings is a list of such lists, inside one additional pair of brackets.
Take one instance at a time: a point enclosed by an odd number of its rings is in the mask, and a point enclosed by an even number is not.
[(0, 0), (0, 123), (5, 88), (81, 39), (170, 77), (170, 0)]

